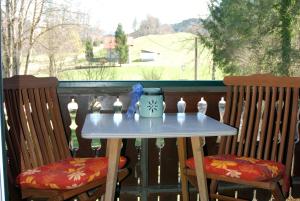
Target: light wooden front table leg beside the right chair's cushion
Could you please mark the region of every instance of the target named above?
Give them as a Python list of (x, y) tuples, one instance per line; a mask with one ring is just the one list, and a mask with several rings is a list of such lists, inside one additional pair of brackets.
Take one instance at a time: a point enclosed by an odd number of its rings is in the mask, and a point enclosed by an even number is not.
[(204, 171), (204, 154), (200, 137), (191, 137), (195, 171), (197, 175), (198, 190), (201, 201), (208, 201), (206, 175)]

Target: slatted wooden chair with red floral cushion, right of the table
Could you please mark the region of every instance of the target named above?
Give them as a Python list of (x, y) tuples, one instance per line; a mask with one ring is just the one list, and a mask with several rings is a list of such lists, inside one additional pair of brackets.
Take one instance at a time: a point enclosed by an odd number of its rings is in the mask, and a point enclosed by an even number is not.
[[(235, 200), (216, 194), (218, 181), (225, 181), (267, 189), (275, 200), (284, 200), (291, 176), (300, 78), (232, 76), (226, 77), (224, 83), (224, 123), (239, 129), (239, 134), (222, 137), (218, 155), (205, 157), (207, 177), (212, 179), (210, 197)], [(193, 163), (193, 159), (186, 161), (185, 174), (196, 185)], [(235, 169), (234, 164), (240, 169)], [(255, 175), (256, 168), (265, 172)], [(248, 178), (243, 177), (243, 171), (249, 173)]]

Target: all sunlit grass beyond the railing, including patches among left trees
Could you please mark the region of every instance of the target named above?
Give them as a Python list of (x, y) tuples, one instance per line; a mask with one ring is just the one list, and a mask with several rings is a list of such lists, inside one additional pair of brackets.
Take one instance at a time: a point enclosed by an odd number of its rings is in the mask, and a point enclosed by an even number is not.
[[(129, 47), (131, 62), (122, 64), (121, 67), (69, 70), (90, 64), (85, 60), (84, 51), (78, 55), (65, 52), (56, 58), (56, 76), (60, 80), (193, 80), (195, 37), (196, 35), (191, 33), (173, 33), (136, 38), (133, 46)], [(211, 79), (211, 52), (200, 43), (197, 46), (197, 79)], [(156, 52), (158, 56), (155, 61), (138, 62), (141, 50)], [(105, 57), (106, 51), (102, 45), (94, 47), (96, 58)], [(48, 65), (48, 57), (35, 52), (31, 58), (29, 74), (48, 76)], [(21, 72), (23, 70), (22, 68)], [(219, 70), (216, 72), (216, 79), (223, 79), (223, 74)]]

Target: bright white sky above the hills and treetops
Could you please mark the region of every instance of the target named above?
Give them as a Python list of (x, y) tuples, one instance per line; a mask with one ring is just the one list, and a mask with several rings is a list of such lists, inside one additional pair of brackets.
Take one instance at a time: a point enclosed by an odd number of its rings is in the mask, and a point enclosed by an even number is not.
[(125, 32), (133, 30), (147, 15), (161, 24), (173, 24), (188, 18), (206, 17), (208, 0), (73, 0), (74, 9), (89, 13), (90, 24), (105, 33), (114, 33), (118, 23)]

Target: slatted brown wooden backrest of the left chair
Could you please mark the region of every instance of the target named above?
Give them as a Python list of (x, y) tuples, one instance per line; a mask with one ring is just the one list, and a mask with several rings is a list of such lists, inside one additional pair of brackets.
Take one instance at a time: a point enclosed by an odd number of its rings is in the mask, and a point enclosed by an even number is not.
[(70, 157), (56, 93), (56, 78), (4, 79), (7, 146), (17, 171)]

